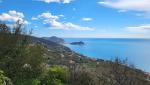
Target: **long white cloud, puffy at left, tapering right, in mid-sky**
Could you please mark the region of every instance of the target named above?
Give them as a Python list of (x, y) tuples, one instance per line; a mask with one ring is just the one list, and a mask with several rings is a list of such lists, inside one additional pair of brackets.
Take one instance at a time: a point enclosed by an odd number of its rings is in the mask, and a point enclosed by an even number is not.
[(42, 13), (33, 19), (43, 20), (43, 24), (50, 25), (53, 29), (64, 29), (64, 30), (94, 30), (90, 27), (83, 27), (71, 22), (59, 22), (59, 16), (52, 15), (50, 12)]

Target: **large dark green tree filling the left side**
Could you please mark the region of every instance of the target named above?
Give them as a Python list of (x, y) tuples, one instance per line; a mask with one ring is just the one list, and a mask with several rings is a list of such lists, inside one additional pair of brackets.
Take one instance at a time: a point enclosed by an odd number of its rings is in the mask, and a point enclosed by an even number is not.
[(44, 47), (31, 43), (19, 21), (13, 28), (0, 24), (0, 69), (15, 85), (26, 85), (25, 82), (43, 74), (46, 63), (43, 54)]

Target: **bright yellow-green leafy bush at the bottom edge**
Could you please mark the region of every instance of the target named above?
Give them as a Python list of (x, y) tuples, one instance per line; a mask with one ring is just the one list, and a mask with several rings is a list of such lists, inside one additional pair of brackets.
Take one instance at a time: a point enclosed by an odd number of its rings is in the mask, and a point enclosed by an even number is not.
[(68, 69), (55, 65), (49, 68), (46, 76), (42, 79), (41, 85), (66, 85), (68, 79)]

